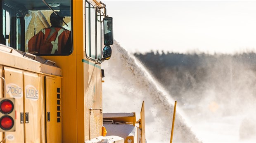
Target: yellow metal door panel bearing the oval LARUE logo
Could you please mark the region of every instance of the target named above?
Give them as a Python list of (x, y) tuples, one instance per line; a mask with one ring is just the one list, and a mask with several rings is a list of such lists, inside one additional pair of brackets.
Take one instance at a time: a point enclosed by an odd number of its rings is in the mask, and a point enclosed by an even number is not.
[(40, 76), (38, 74), (24, 71), (24, 124), (25, 124), (25, 142), (41, 142), (41, 88)]

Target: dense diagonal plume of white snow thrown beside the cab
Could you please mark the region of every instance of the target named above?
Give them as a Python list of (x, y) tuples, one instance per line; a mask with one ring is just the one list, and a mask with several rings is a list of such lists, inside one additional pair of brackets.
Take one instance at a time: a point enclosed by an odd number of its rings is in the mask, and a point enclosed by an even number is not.
[[(104, 113), (136, 112), (138, 120), (144, 100), (147, 142), (170, 142), (174, 100), (142, 64), (115, 42), (102, 69)], [(178, 109), (177, 104), (173, 142), (200, 142)]]

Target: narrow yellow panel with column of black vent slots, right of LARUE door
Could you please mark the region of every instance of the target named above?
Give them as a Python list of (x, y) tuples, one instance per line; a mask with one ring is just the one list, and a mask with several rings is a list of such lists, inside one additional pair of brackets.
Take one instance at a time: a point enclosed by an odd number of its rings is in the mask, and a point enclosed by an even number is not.
[[(62, 120), (61, 120), (61, 79), (46, 76), (46, 138), (47, 143), (62, 142)], [(72, 105), (70, 105), (72, 106)]]

